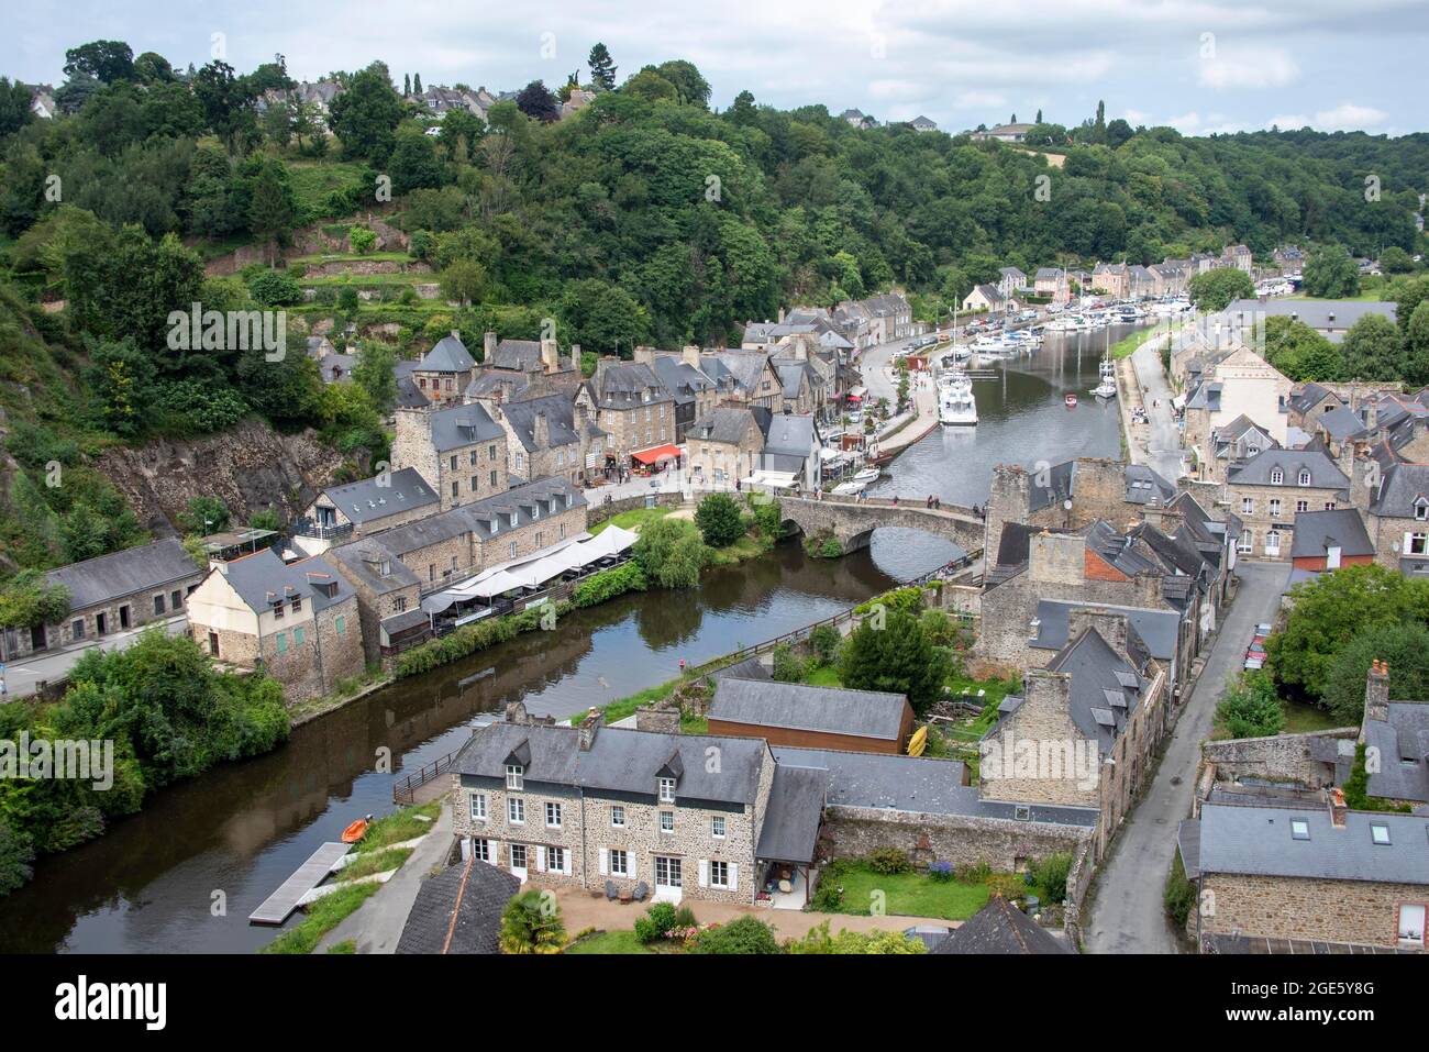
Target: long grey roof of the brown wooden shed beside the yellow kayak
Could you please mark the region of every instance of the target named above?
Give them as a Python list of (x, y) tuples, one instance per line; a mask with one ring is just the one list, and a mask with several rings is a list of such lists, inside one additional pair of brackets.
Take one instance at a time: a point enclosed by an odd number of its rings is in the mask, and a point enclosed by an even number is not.
[(906, 708), (903, 695), (882, 690), (726, 678), (719, 680), (707, 715), (726, 723), (896, 742)]

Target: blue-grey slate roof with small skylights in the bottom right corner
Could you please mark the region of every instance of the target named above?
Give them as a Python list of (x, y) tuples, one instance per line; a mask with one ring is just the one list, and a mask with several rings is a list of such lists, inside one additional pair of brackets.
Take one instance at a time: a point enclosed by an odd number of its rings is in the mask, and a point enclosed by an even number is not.
[[(1309, 839), (1290, 836), (1303, 820)], [(1429, 816), (1350, 810), (1345, 828), (1319, 806), (1236, 806), (1200, 809), (1200, 872), (1299, 876), (1319, 880), (1370, 880), (1429, 885)], [(1375, 843), (1370, 826), (1389, 829), (1389, 843)]]

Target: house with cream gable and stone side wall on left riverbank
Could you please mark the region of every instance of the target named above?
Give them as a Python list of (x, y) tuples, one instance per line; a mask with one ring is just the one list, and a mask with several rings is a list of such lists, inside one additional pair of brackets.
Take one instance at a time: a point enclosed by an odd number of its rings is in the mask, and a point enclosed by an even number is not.
[(189, 632), (214, 660), (262, 668), (290, 702), (366, 666), (357, 596), (323, 556), (284, 563), (263, 549), (219, 563), (189, 596)]

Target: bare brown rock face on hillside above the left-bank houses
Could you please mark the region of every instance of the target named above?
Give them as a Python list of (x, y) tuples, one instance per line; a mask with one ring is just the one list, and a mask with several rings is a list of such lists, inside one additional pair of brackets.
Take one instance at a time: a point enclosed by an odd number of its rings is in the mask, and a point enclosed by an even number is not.
[(129, 499), (139, 522), (164, 536), (176, 533), (176, 517), (199, 496), (221, 499), (236, 523), (264, 507), (289, 520), (333, 480), (342, 462), (314, 432), (279, 435), (262, 420), (246, 420), (206, 439), (114, 447), (96, 467)]

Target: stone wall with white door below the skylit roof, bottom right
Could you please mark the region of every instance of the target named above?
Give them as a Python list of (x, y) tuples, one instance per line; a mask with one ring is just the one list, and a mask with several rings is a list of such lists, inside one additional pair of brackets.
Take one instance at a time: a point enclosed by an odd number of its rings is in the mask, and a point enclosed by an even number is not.
[(1396, 946), (1399, 905), (1426, 898), (1423, 885), (1206, 873), (1200, 933)]

